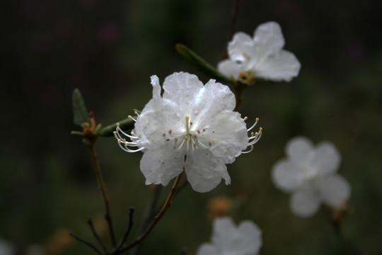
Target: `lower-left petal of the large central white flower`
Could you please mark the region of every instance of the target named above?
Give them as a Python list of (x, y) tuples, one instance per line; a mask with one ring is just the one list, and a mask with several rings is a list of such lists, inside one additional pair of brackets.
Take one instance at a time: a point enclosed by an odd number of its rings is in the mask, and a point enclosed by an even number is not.
[(162, 184), (178, 176), (183, 171), (184, 156), (175, 152), (173, 144), (166, 144), (160, 149), (149, 149), (141, 159), (141, 172), (146, 177), (146, 184)]

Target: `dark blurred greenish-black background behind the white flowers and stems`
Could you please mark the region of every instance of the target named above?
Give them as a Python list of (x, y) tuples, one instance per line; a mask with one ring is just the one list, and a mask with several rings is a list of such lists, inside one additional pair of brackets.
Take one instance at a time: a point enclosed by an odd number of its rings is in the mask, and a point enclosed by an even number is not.
[[(261, 254), (349, 254), (324, 209), (307, 219), (289, 210), (274, 187), (272, 164), (296, 136), (333, 142), (340, 174), (352, 186), (342, 220), (344, 236), (364, 254), (382, 254), (381, 1), (242, 0), (237, 30), (253, 35), (277, 21), (285, 49), (301, 62), (290, 83), (257, 83), (239, 109), (260, 117), (264, 135), (250, 154), (228, 166), (231, 186), (209, 193), (185, 188), (139, 254), (195, 254), (209, 241), (211, 219), (229, 214), (263, 231)], [(108, 125), (142, 109), (150, 76), (195, 73), (175, 52), (181, 42), (212, 64), (223, 54), (233, 1), (7, 1), (1, 9), (0, 239), (45, 254), (92, 254), (70, 230), (95, 242), (92, 217), (107, 238), (93, 166), (81, 137), (70, 135), (71, 93), (79, 88), (98, 123)], [(114, 138), (97, 143), (117, 236), (136, 208), (137, 234), (153, 187), (144, 186), (141, 154), (122, 152)], [(163, 189), (163, 200), (170, 187)], [(32, 248), (31, 248), (32, 247)], [(33, 248), (34, 247), (34, 248)], [(37, 247), (37, 248), (36, 248)], [(30, 253), (33, 254), (33, 253)], [(37, 255), (37, 253), (35, 253)], [(34, 254), (33, 254), (34, 255)]]

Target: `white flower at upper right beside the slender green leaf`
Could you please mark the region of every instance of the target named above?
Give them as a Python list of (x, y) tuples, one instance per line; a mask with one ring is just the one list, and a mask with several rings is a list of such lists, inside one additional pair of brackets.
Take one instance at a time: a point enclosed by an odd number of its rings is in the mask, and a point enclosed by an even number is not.
[(284, 37), (278, 23), (267, 22), (257, 27), (253, 38), (243, 32), (233, 35), (228, 43), (228, 60), (219, 62), (222, 74), (238, 79), (241, 72), (272, 81), (291, 81), (299, 74), (301, 64), (293, 53), (282, 50)]

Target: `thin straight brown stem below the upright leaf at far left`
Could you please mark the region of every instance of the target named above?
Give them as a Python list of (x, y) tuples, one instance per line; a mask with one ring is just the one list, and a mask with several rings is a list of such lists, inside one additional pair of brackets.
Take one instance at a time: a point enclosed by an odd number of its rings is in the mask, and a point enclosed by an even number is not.
[(109, 230), (110, 230), (110, 238), (113, 246), (116, 245), (114, 229), (112, 227), (112, 217), (110, 213), (110, 202), (108, 198), (108, 194), (106, 193), (105, 183), (103, 182), (102, 174), (100, 171), (100, 162), (98, 161), (98, 156), (96, 154), (96, 147), (94, 145), (95, 140), (91, 141), (88, 145), (89, 152), (91, 154), (91, 160), (93, 161), (94, 170), (97, 176), (98, 187), (100, 188), (100, 193), (103, 198), (103, 203), (105, 203), (105, 220), (108, 222)]

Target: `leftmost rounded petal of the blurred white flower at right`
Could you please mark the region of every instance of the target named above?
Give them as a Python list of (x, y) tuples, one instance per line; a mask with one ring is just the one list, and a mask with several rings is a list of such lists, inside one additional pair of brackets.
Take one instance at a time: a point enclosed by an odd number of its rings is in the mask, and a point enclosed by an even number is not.
[(294, 191), (303, 184), (303, 171), (298, 164), (285, 159), (276, 162), (272, 167), (272, 181), (274, 186), (282, 191)]

